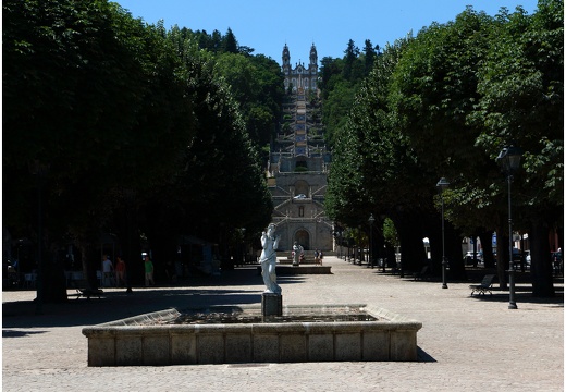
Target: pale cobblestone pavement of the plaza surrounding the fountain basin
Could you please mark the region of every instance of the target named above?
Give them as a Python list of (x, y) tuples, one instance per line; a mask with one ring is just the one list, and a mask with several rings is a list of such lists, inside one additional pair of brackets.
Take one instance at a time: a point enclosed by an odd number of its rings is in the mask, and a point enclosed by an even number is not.
[[(417, 363), (87, 367), (85, 326), (169, 307), (260, 304), (255, 269), (189, 279), (183, 287), (104, 290), (101, 299), (44, 305), (33, 291), (2, 293), (3, 391), (563, 391), (564, 299), (517, 285), (470, 297), (468, 283), (413, 281), (327, 257), (332, 274), (280, 277), (284, 304), (372, 303), (422, 322)], [(481, 280), (481, 277), (480, 277)], [(478, 281), (479, 282), (479, 281)], [(71, 293), (71, 292), (70, 292)]]

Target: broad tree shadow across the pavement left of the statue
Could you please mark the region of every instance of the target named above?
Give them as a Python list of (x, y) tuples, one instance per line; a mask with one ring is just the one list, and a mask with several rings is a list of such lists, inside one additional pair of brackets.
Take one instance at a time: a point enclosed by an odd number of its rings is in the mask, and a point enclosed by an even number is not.
[[(285, 284), (302, 283), (304, 279), (280, 279)], [(169, 308), (201, 307), (211, 305), (261, 304), (263, 281), (255, 269), (243, 268), (223, 271), (219, 277), (190, 277), (182, 286), (102, 289), (100, 298), (70, 297), (65, 303), (44, 304), (36, 314), (34, 301), (12, 301), (2, 304), (2, 328), (50, 328), (93, 326), (122, 318)], [(249, 286), (242, 287), (241, 286)], [(72, 291), (70, 290), (69, 293)], [(26, 331), (9, 332), (12, 336)]]

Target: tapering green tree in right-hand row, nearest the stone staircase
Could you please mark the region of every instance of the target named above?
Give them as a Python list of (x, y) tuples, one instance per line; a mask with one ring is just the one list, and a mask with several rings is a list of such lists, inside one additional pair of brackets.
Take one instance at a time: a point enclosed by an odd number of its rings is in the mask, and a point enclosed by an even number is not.
[(370, 212), (391, 218), (399, 236), (403, 269), (416, 271), (424, 261), (423, 225), (432, 210), (422, 198), (431, 195), (426, 191), (428, 175), (407, 137), (399, 134), (389, 103), (391, 74), (406, 45), (407, 40), (399, 40), (387, 47), (356, 95), (347, 123), (336, 136), (328, 209), (346, 224), (365, 222)]

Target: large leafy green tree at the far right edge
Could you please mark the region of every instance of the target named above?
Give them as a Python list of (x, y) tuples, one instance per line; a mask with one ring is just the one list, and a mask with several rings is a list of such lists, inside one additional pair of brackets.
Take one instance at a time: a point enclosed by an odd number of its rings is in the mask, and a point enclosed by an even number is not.
[[(536, 296), (554, 295), (549, 228), (564, 225), (563, 13), (564, 3), (553, 0), (539, 1), (530, 16), (521, 9), (500, 13), (470, 115), (484, 125), (478, 145), (493, 158), (510, 143), (525, 151), (513, 185), (514, 226), (529, 232)], [(495, 192), (506, 197), (504, 184)]]

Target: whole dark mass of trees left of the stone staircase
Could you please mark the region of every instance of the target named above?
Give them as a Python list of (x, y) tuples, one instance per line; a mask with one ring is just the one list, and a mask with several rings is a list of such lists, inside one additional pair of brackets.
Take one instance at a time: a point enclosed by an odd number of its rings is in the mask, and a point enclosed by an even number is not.
[(106, 0), (2, 8), (3, 231), (41, 244), (40, 282), (61, 272), (47, 249), (73, 244), (95, 286), (102, 233), (118, 235), (138, 284), (140, 238), (159, 268), (180, 234), (226, 243), (267, 225), (259, 151), (280, 115), (274, 61), (239, 51), (231, 30), (208, 51), (202, 32), (147, 25)]

